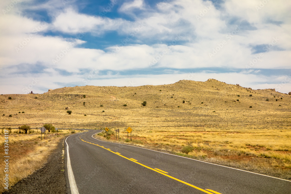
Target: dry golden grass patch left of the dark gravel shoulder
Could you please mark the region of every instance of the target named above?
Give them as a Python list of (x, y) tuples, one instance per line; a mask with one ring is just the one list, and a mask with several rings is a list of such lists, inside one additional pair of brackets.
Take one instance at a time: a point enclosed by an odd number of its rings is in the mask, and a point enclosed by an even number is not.
[[(68, 134), (70, 130), (63, 130)], [(80, 132), (80, 131), (76, 131)], [(9, 134), (9, 188), (21, 179), (31, 175), (41, 168), (49, 154), (54, 150), (64, 135), (46, 136), (40, 142), (40, 134)], [(0, 135), (0, 141), (4, 142), (4, 135)], [(4, 158), (4, 143), (0, 148), (0, 157)], [(0, 167), (0, 179), (4, 179), (4, 165)], [(0, 193), (4, 191), (3, 184), (0, 185)]]

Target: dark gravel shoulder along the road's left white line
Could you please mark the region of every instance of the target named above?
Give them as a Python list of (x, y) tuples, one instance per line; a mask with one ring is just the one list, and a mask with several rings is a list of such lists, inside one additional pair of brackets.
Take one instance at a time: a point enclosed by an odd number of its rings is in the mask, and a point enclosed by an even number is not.
[(64, 139), (65, 137), (61, 139), (42, 168), (22, 179), (3, 194), (66, 193), (64, 156), (62, 156)]

